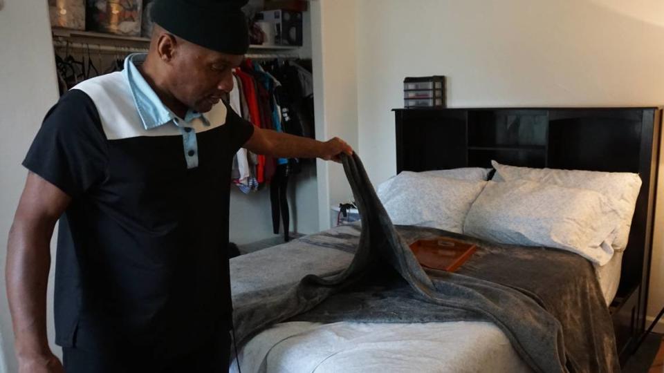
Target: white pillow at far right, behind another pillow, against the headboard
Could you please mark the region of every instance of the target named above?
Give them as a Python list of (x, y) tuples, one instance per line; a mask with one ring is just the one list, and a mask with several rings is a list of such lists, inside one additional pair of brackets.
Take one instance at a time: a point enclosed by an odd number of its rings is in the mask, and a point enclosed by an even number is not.
[(641, 178), (636, 173), (598, 172), (581, 170), (530, 169), (528, 167), (506, 166), (491, 161), (496, 169), (494, 181), (517, 179), (555, 184), (560, 187), (580, 188), (596, 191), (613, 198), (620, 214), (621, 224), (614, 232), (611, 246), (618, 251), (627, 247), (631, 218), (634, 217), (636, 198), (641, 187)]

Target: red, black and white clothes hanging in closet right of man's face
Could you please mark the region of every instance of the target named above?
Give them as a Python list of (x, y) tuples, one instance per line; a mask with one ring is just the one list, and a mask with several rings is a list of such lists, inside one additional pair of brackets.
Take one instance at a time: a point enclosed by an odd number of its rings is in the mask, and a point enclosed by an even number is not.
[[(313, 77), (310, 70), (293, 61), (246, 59), (234, 70), (231, 108), (259, 128), (313, 137)], [(311, 110), (306, 102), (311, 99)], [(246, 163), (245, 163), (246, 162)], [(244, 193), (270, 184), (273, 231), (283, 229), (290, 240), (288, 179), (299, 172), (297, 159), (273, 159), (240, 149), (235, 155), (233, 182)], [(282, 227), (280, 227), (282, 224)]]

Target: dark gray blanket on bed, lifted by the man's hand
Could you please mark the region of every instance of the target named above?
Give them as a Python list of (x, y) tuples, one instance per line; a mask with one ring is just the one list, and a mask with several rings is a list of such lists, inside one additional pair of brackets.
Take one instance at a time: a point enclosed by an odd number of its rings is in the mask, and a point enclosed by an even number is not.
[[(535, 372), (620, 370), (611, 318), (587, 260), (553, 249), (394, 227), (357, 155), (344, 157), (343, 163), (362, 215), (360, 231), (347, 227), (344, 233), (308, 236), (263, 253), (262, 262), (234, 260), (234, 324), (240, 344), (289, 319), (491, 321)], [(457, 273), (427, 273), (408, 244), (438, 236), (475, 242), (479, 249)], [(270, 255), (291, 255), (293, 270), (271, 268)], [(304, 273), (312, 274), (299, 279)]]

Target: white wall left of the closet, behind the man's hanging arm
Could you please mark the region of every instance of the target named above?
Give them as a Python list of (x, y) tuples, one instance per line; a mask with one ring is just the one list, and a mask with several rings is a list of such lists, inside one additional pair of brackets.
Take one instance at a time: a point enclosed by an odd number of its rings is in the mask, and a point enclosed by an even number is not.
[[(5, 293), (5, 247), (27, 175), (21, 161), (46, 111), (57, 101), (57, 82), (46, 2), (9, 0), (4, 3), (0, 9), (0, 131), (3, 133), (0, 137), (0, 332), (8, 372), (16, 372)], [(53, 277), (49, 285), (48, 333), (55, 347)], [(54, 351), (59, 353), (59, 348)], [(0, 370), (1, 366), (0, 363)]]

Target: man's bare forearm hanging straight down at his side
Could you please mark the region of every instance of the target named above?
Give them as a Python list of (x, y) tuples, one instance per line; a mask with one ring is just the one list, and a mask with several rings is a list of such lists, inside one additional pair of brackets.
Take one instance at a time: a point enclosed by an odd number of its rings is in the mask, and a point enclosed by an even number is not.
[(37, 229), (15, 222), (9, 235), (6, 284), (18, 356), (50, 353), (46, 337), (46, 288), (51, 222)]

